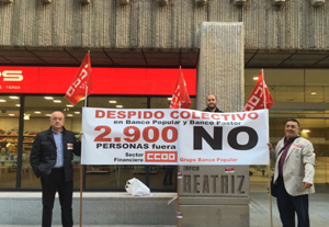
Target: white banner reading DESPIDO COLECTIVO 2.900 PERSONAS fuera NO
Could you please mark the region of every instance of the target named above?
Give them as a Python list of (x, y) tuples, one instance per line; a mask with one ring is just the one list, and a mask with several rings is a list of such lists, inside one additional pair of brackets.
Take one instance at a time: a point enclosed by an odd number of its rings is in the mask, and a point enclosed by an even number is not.
[(269, 164), (266, 110), (82, 110), (82, 164)]

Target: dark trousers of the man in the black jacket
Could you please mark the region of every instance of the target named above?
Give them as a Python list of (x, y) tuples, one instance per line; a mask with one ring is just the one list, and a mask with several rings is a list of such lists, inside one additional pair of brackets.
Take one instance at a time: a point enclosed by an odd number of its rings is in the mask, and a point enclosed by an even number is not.
[(56, 191), (59, 195), (63, 227), (73, 226), (73, 181), (65, 182), (64, 169), (53, 169), (48, 177), (42, 177), (41, 182), (43, 186), (43, 227), (52, 226)]

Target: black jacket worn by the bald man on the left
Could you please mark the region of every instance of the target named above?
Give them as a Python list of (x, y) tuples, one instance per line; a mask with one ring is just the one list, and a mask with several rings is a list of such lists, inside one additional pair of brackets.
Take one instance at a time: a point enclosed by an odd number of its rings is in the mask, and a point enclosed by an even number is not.
[[(72, 144), (73, 148), (68, 149), (68, 144)], [(81, 143), (77, 141), (75, 134), (70, 130), (63, 130), (63, 152), (64, 152), (64, 171), (65, 180), (73, 180), (72, 158), (73, 155), (81, 155)], [(53, 136), (52, 127), (48, 130), (41, 132), (36, 135), (30, 156), (30, 163), (38, 178), (47, 177), (56, 164), (57, 151)]]

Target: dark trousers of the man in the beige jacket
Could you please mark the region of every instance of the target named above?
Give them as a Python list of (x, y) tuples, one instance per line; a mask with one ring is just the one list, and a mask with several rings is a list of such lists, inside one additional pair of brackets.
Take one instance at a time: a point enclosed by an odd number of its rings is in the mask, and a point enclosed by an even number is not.
[(280, 177), (277, 179), (276, 200), (283, 227), (295, 227), (295, 213), (297, 214), (298, 227), (309, 227), (308, 195), (290, 195), (284, 188), (283, 178)]

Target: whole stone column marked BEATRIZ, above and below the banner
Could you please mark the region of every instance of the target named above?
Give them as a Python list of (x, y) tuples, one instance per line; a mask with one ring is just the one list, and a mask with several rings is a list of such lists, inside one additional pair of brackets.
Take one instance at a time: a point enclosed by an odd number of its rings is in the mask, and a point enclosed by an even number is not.
[[(206, 106), (206, 97), (213, 93), (217, 95), (219, 110), (242, 111), (243, 53), (242, 23), (202, 24), (197, 110)], [(249, 227), (248, 166), (182, 166), (180, 172), (180, 227)]]

